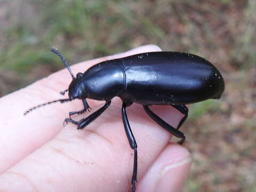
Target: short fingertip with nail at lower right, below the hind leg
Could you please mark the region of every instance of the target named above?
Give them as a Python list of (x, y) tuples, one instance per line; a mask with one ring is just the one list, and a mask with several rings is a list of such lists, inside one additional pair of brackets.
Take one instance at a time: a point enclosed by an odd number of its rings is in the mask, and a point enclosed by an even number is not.
[(137, 191), (181, 191), (190, 166), (188, 150), (169, 143), (139, 181)]

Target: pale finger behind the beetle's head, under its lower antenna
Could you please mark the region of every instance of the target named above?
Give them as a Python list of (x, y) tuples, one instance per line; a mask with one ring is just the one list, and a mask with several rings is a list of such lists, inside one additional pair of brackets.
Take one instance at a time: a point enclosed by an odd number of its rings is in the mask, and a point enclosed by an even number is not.
[[(155, 45), (138, 47), (135, 51), (125, 52), (114, 57), (126, 57), (134, 52), (158, 51)], [(87, 68), (111, 57), (104, 57), (78, 63), (72, 66), (73, 71), (84, 72)], [(67, 69), (63, 69), (34, 84), (27, 86), (0, 99), (0, 172), (20, 161), (49, 141), (62, 129), (62, 122), (69, 111), (82, 108), (81, 102), (52, 105), (38, 109), (24, 117), (24, 111), (38, 103), (61, 98), (60, 91), (66, 90), (71, 77)]]

